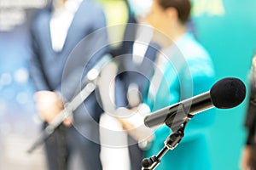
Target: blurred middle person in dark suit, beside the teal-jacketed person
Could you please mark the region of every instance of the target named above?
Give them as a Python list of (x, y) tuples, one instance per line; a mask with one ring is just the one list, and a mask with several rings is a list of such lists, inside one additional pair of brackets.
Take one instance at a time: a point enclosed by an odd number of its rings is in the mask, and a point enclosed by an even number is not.
[(118, 55), (122, 59), (116, 77), (116, 113), (129, 134), (127, 144), (132, 169), (141, 169), (143, 144), (147, 143), (144, 140), (152, 134), (150, 129), (143, 127), (143, 116), (150, 111), (143, 100), (148, 92), (154, 73), (154, 60), (159, 50), (159, 46), (151, 42), (152, 33), (150, 26), (128, 24), (125, 41)]

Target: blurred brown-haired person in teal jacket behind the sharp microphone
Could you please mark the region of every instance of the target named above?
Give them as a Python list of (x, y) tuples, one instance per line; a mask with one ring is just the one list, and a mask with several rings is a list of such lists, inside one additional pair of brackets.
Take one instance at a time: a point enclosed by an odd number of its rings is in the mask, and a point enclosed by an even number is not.
[[(160, 67), (162, 75), (156, 77), (157, 81), (153, 77), (148, 97), (144, 100), (151, 111), (207, 92), (214, 83), (214, 69), (209, 54), (187, 31), (189, 12), (189, 0), (153, 1), (148, 22), (172, 42), (160, 51), (159, 60), (162, 64), (156, 65)], [(180, 144), (161, 158), (156, 169), (211, 169), (208, 127), (213, 120), (214, 109), (195, 115), (185, 128)], [(157, 155), (171, 133), (171, 128), (166, 125), (156, 127), (154, 140), (145, 151), (145, 157)]]

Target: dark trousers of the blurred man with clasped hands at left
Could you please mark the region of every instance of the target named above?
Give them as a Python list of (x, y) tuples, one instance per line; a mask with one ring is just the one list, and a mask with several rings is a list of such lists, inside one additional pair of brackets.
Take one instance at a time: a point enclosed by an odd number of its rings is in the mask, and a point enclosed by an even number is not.
[(100, 145), (61, 125), (45, 142), (49, 170), (102, 170)]

